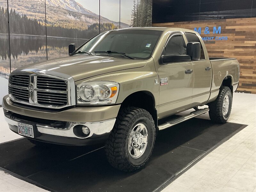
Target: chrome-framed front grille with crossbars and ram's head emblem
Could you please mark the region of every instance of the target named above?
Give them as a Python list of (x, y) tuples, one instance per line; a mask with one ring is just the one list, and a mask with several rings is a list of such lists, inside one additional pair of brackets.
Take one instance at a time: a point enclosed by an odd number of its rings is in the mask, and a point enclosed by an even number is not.
[[(11, 74), (9, 77), (9, 96), (11, 99), (28, 105), (47, 108), (69, 106), (71, 99), (68, 99), (70, 98), (68, 87), (70, 90), (68, 79), (54, 78), (52, 75)], [(72, 89), (73, 87), (74, 85)]]

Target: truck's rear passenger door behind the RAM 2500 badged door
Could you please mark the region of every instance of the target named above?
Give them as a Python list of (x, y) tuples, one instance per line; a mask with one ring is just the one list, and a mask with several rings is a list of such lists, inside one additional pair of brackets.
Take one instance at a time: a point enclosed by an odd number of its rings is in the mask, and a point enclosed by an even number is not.
[(198, 61), (192, 61), (194, 85), (192, 92), (191, 107), (196, 107), (205, 103), (210, 96), (212, 83), (212, 66), (210, 60), (205, 58), (206, 50), (203, 49), (204, 43), (195, 33), (185, 32), (188, 42), (199, 42), (201, 44), (201, 58)]

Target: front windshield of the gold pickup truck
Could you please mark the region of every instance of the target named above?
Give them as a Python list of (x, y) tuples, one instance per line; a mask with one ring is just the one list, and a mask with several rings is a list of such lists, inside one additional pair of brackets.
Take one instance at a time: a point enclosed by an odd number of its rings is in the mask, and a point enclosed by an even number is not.
[(161, 34), (162, 31), (139, 29), (107, 31), (92, 38), (76, 53), (146, 59), (151, 56)]

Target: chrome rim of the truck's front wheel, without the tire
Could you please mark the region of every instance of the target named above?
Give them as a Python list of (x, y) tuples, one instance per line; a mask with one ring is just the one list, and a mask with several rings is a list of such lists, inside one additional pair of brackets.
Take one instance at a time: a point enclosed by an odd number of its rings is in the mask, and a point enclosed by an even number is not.
[(145, 124), (135, 125), (129, 135), (129, 153), (137, 159), (143, 155), (148, 145), (148, 128)]

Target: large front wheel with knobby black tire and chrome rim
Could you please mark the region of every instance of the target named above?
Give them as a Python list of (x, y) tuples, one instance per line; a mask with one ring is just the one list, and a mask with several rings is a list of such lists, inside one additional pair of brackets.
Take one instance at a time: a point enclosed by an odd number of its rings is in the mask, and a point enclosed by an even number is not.
[(155, 123), (148, 111), (123, 108), (105, 145), (108, 162), (121, 171), (138, 170), (148, 162), (155, 139)]

